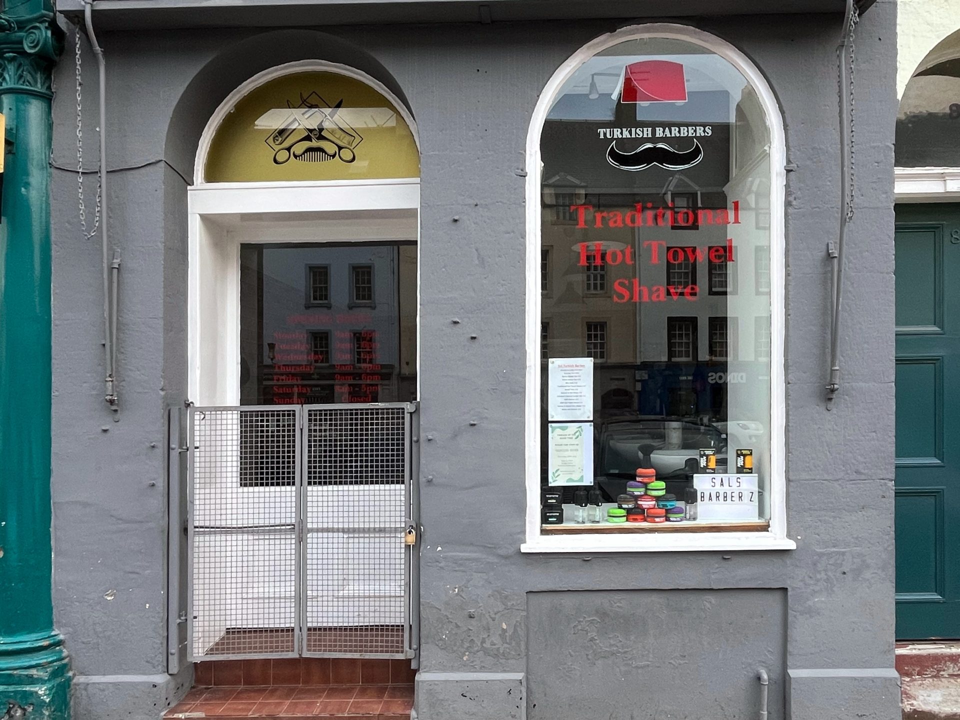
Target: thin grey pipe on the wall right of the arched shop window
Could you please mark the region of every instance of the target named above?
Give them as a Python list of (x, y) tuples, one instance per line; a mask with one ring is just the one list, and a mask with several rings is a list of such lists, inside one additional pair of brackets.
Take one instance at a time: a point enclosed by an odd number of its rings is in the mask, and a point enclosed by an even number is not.
[[(844, 248), (847, 226), (853, 218), (853, 29), (859, 20), (854, 0), (847, 0), (843, 36), (837, 47), (839, 60), (838, 100), (840, 107), (840, 232), (837, 242), (827, 244), (827, 254), (833, 268), (833, 316), (830, 318), (830, 376), (827, 383), (827, 409), (833, 409), (833, 399), (840, 390), (840, 311), (843, 305)], [(848, 74), (848, 57), (850, 72)]]

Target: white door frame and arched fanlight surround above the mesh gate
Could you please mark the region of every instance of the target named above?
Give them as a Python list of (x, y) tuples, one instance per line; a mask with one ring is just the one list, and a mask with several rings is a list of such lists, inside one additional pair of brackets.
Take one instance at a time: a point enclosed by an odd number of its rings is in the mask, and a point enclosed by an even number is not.
[[(242, 243), (420, 243), (420, 178), (205, 181), (210, 144), (236, 104), (254, 88), (300, 72), (337, 73), (371, 85), (397, 109), (420, 149), (417, 126), (403, 103), (386, 85), (348, 65), (323, 60), (288, 62), (253, 76), (228, 95), (204, 128), (194, 165), (196, 183), (187, 188), (187, 397), (197, 405), (240, 404)], [(396, 217), (367, 220), (371, 211), (384, 210), (394, 211)], [(341, 219), (324, 220), (332, 212), (340, 213)], [(264, 222), (257, 215), (277, 220)], [(366, 223), (359, 234), (354, 219)], [(420, 252), (416, 342), (420, 397)]]

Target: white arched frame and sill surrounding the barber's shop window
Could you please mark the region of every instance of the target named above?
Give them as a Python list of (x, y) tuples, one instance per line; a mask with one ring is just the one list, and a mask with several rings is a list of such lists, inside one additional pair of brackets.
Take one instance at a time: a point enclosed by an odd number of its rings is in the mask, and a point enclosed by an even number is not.
[[(766, 532), (542, 535), (540, 532), (540, 231), (542, 222), (540, 134), (547, 112), (564, 83), (588, 59), (624, 40), (667, 37), (700, 45), (729, 60), (754, 86), (770, 130), (771, 272), (771, 456), (770, 527)], [(685, 25), (654, 23), (600, 36), (564, 62), (540, 93), (527, 134), (526, 180), (526, 553), (663, 552), (704, 550), (792, 550), (786, 529), (786, 400), (783, 372), (786, 146), (783, 119), (773, 90), (756, 65), (730, 43)]]

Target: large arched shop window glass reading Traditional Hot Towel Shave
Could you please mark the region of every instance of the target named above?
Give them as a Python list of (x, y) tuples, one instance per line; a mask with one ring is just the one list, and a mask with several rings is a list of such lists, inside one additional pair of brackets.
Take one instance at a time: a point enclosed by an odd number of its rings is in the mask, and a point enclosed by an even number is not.
[[(706, 450), (717, 476), (749, 471), (754, 515), (721, 509), (695, 522), (765, 528), (769, 146), (754, 88), (681, 40), (605, 50), (550, 109), (540, 145), (544, 489), (556, 489), (547, 361), (593, 360), (594, 484), (561, 488), (565, 525), (576, 491), (599, 489), (613, 507), (637, 468), (652, 468), (683, 507), (694, 475), (708, 474)], [(545, 527), (555, 522), (544, 515)]]

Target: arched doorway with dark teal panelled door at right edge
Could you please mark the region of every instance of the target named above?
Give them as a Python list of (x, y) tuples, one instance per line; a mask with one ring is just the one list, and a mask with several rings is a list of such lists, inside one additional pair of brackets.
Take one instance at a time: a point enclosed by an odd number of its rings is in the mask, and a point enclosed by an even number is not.
[(960, 31), (897, 116), (897, 637), (960, 637)]

